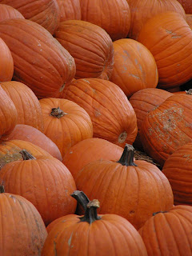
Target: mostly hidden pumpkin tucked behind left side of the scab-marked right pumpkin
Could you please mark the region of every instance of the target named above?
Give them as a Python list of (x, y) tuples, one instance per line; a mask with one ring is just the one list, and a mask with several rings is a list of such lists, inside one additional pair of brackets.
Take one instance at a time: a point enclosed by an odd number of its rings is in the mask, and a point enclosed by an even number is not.
[(138, 134), (134, 141), (135, 147), (142, 149), (142, 142), (139, 134), (142, 127), (142, 122), (146, 118), (146, 114), (150, 113), (150, 111), (161, 105), (166, 98), (169, 98), (172, 95), (173, 94), (166, 90), (158, 88), (145, 88), (138, 90), (130, 97), (130, 104), (134, 108), (138, 125)]

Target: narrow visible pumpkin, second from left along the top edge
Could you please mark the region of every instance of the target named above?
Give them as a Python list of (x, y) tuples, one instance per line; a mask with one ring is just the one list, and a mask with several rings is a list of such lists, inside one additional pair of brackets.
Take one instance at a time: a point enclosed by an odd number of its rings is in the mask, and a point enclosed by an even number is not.
[(60, 22), (68, 19), (81, 19), (80, 0), (57, 0), (60, 10)]

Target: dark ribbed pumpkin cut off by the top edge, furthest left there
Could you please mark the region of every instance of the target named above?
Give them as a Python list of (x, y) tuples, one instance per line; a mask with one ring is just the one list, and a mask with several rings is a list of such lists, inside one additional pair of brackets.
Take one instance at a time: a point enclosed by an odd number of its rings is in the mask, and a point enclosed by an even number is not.
[(37, 22), (48, 30), (50, 34), (54, 34), (60, 21), (57, 0), (0, 0), (0, 3), (14, 7), (26, 19)]

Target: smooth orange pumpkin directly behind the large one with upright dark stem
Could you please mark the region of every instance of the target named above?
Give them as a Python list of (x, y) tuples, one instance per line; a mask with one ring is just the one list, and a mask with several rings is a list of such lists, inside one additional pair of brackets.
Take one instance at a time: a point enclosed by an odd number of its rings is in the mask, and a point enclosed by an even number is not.
[(116, 160), (122, 155), (122, 147), (102, 138), (86, 138), (68, 150), (62, 159), (75, 178), (86, 164), (96, 160)]

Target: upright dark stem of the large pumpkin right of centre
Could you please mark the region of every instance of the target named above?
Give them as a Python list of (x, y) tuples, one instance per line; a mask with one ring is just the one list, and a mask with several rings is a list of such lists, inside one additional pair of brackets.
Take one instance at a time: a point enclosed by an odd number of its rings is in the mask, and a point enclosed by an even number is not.
[(134, 147), (130, 144), (126, 144), (121, 158), (118, 160), (122, 166), (137, 166), (134, 163)]

